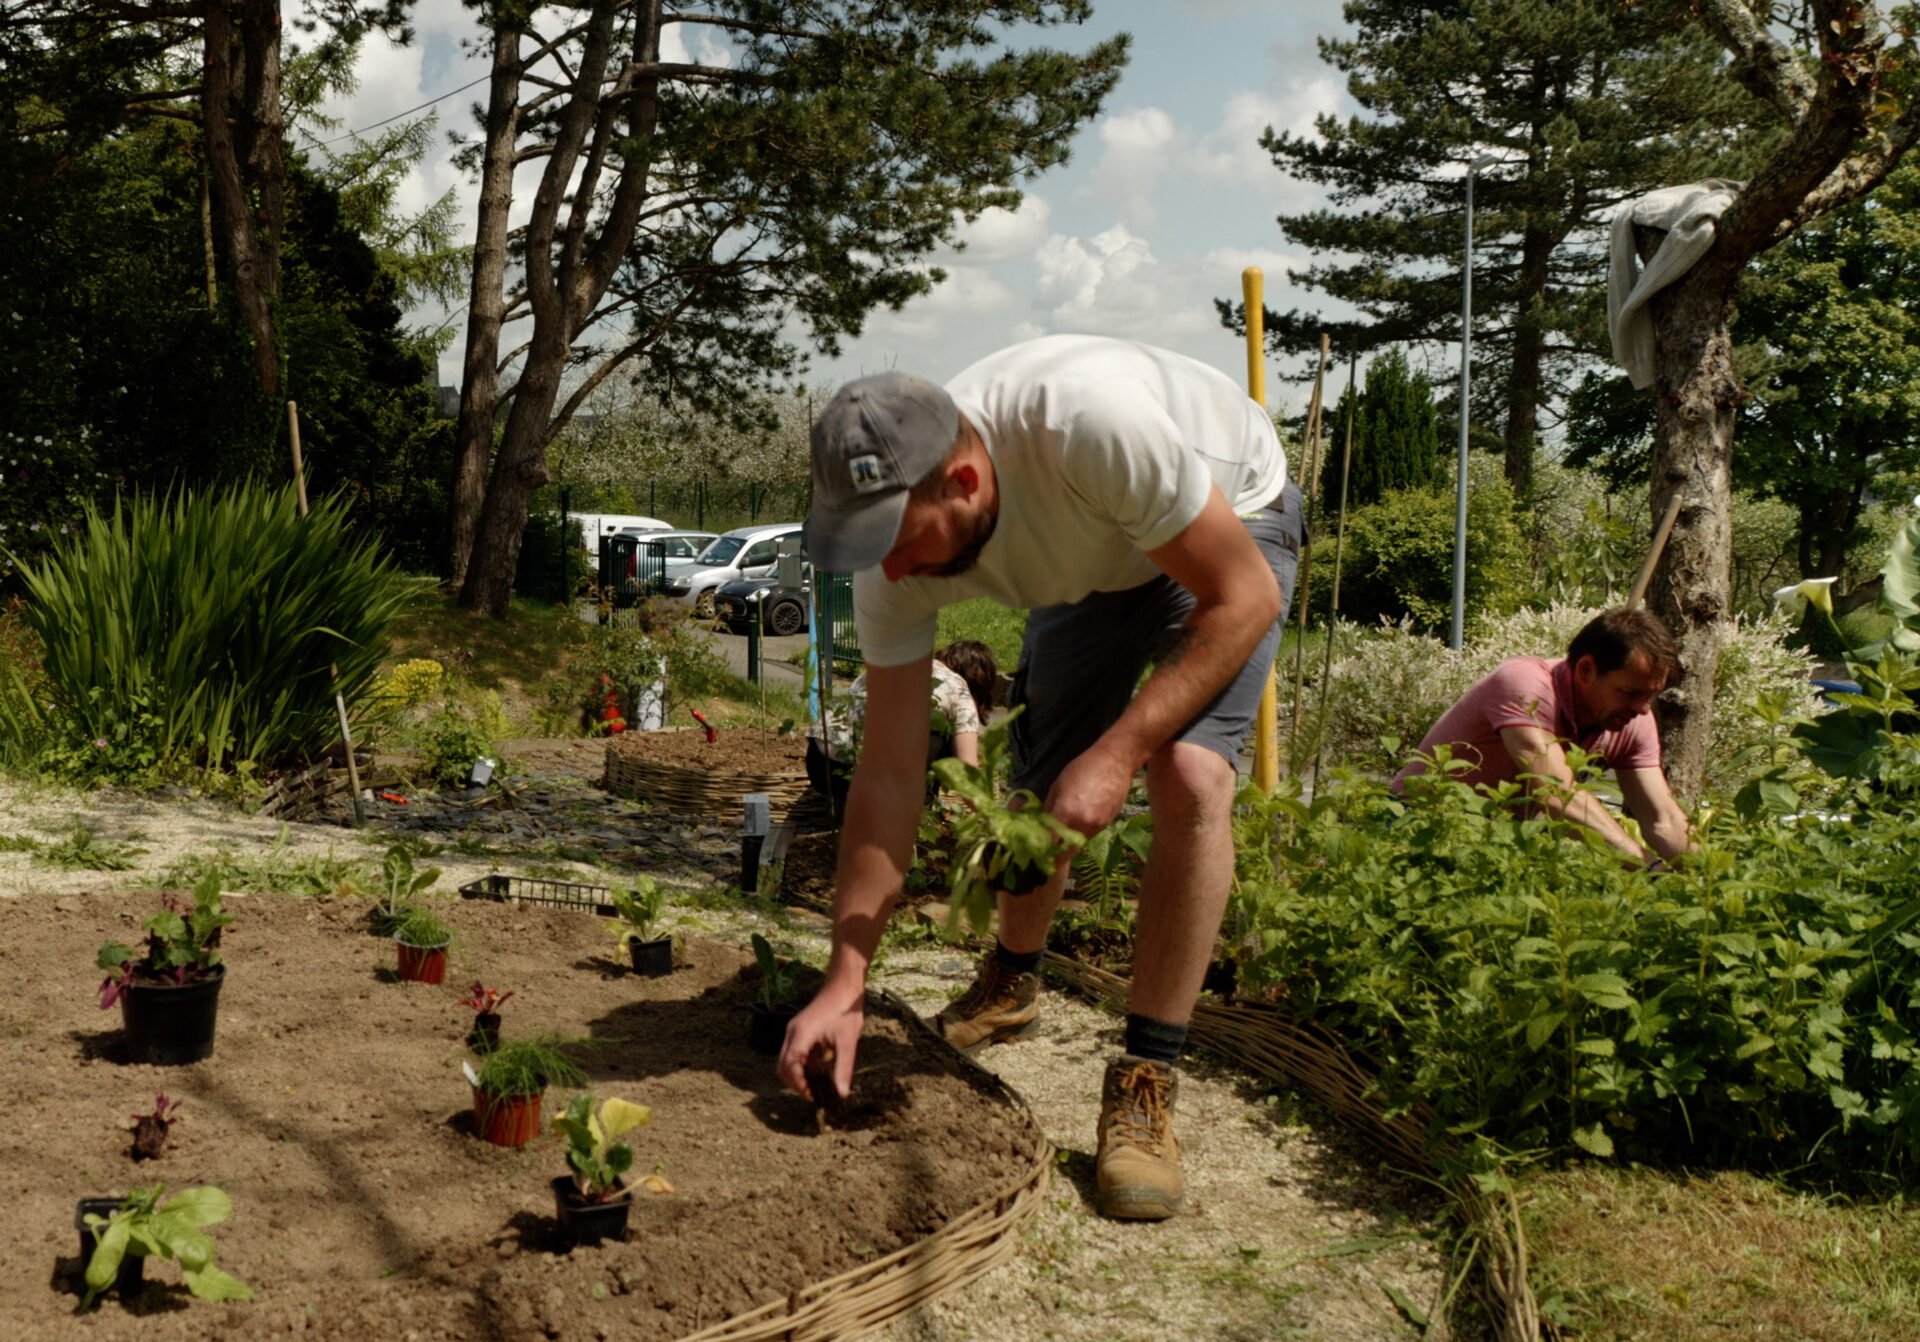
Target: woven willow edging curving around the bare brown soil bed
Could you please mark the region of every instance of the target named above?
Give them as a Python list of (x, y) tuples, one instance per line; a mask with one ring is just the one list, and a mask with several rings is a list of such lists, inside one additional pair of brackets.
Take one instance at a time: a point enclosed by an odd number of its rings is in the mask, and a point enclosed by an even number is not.
[[(939, 1039), (920, 1014), (893, 993), (876, 996), (893, 1016)], [(941, 1041), (941, 1048), (945, 1046)], [(908, 1309), (960, 1290), (1010, 1259), (1020, 1248), (1020, 1229), (1041, 1210), (1054, 1152), (1018, 1090), (973, 1062), (966, 1062), (966, 1069), (977, 1089), (995, 1094), (1025, 1117), (1029, 1167), (1023, 1175), (924, 1240), (839, 1277), (803, 1286), (785, 1300), (772, 1300), (758, 1309), (691, 1332), (680, 1342), (851, 1342), (876, 1332)]]

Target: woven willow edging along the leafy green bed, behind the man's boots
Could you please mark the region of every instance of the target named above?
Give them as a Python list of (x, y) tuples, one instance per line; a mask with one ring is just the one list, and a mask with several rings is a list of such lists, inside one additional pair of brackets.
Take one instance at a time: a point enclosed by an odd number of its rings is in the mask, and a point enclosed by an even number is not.
[[(1046, 952), (1046, 970), (1108, 1010), (1127, 1010), (1129, 979), (1069, 956)], [(1192, 1042), (1212, 1048), (1263, 1077), (1298, 1085), (1346, 1119), (1382, 1156), (1402, 1167), (1432, 1173), (1423, 1110), (1388, 1117), (1375, 1094), (1375, 1077), (1332, 1033), (1290, 1021), (1260, 1006), (1198, 1002), (1188, 1025)], [(1500, 1342), (1538, 1342), (1540, 1307), (1526, 1282), (1526, 1234), (1511, 1192), (1488, 1194), (1469, 1181), (1448, 1192), (1473, 1227), (1461, 1275), (1480, 1269), (1476, 1294)], [(1452, 1298), (1452, 1292), (1450, 1292)]]

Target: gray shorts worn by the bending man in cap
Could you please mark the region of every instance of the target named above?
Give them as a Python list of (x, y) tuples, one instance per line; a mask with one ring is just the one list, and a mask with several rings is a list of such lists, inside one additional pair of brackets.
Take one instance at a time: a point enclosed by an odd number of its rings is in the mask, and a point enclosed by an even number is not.
[[(1306, 543), (1300, 490), (1288, 484), (1281, 497), (1240, 522), (1281, 584), (1281, 616), (1240, 674), (1175, 737), (1204, 745), (1229, 764), (1246, 745), (1281, 628), (1294, 605), (1294, 572)], [(1060, 772), (1125, 712), (1140, 672), (1187, 624), (1192, 607), (1190, 591), (1160, 576), (1139, 587), (1094, 591), (1027, 614), (1020, 670), (1008, 695), (1010, 707), (1025, 707), (1010, 728), (1014, 787), (1046, 797)]]

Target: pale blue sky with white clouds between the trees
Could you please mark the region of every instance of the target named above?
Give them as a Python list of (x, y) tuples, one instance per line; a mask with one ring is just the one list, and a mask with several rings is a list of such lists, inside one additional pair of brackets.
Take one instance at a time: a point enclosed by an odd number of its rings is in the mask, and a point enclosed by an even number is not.
[[(900, 313), (876, 313), (841, 359), (816, 359), (810, 380), (879, 369), (945, 380), (1016, 340), (1102, 332), (1181, 349), (1244, 382), (1244, 344), (1219, 326), (1213, 300), (1238, 298), (1240, 271), (1258, 265), (1269, 307), (1313, 301), (1286, 286), (1286, 269), (1306, 255), (1288, 250), (1273, 217), (1311, 207), (1319, 192), (1284, 179), (1258, 138), (1267, 125), (1309, 131), (1321, 111), (1352, 111), (1315, 48), (1338, 29), (1334, 0), (1094, 0), (1091, 23), (1052, 29), (1044, 40), (1083, 48), (1127, 31), (1133, 60), (1104, 115), (1073, 142), (1071, 161), (1029, 180), (1020, 211), (970, 225), (964, 252), (931, 257), (948, 271), (947, 284)], [(374, 42), (361, 54), (359, 88), (326, 108), (342, 129), (484, 75), (484, 60), (463, 50), (476, 27), (459, 0), (422, 0), (415, 31), (411, 48)], [(442, 102), (442, 129), (470, 132), (476, 96), (484, 86)], [(470, 236), (474, 188), (449, 154), (420, 165), (401, 205), (453, 188)], [(457, 347), (440, 367), (442, 380), (457, 378)], [(1277, 382), (1294, 371), (1269, 365), (1269, 399), (1302, 395)]]

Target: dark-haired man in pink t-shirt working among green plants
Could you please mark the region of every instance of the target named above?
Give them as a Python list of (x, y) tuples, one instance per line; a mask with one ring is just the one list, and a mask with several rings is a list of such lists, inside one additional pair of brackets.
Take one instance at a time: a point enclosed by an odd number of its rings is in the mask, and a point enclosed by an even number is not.
[[(1446, 745), (1455, 760), (1471, 764), (1455, 774), (1463, 783), (1521, 779), (1549, 814), (1586, 826), (1636, 862), (1665, 868), (1693, 847), (1686, 812), (1661, 772), (1661, 737), (1649, 712), (1676, 664), (1678, 647), (1659, 618), (1607, 611), (1574, 634), (1567, 657), (1517, 657), (1469, 689), (1421, 741), (1419, 758), (1400, 770), (1394, 791), (1427, 772)], [(1613, 770), (1653, 852), (1594, 793), (1572, 785), (1567, 745)]]

